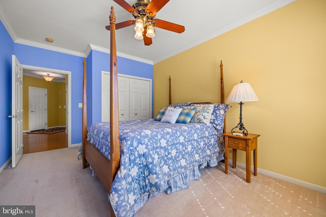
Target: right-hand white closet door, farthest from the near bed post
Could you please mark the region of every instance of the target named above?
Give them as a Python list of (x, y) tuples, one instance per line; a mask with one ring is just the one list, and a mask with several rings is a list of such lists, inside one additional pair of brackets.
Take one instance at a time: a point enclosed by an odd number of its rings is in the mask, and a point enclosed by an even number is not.
[(150, 82), (147, 80), (130, 78), (129, 118), (150, 118)]

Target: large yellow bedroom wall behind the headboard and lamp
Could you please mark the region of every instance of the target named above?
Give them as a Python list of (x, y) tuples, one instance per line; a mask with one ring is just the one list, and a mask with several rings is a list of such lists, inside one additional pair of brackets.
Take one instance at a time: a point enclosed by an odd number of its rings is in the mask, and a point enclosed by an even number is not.
[[(259, 98), (242, 109), (261, 135), (258, 168), (326, 187), (326, 1), (298, 0), (155, 64), (154, 114), (168, 104), (169, 75), (172, 103), (219, 102), (221, 59), (226, 98), (241, 80)], [(227, 131), (239, 122), (231, 105)]]

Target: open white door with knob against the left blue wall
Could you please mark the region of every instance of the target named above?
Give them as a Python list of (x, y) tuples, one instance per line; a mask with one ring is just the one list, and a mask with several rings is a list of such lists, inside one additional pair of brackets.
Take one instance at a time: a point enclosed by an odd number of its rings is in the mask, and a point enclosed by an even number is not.
[(22, 67), (15, 55), (12, 55), (12, 167), (16, 167), (22, 156)]

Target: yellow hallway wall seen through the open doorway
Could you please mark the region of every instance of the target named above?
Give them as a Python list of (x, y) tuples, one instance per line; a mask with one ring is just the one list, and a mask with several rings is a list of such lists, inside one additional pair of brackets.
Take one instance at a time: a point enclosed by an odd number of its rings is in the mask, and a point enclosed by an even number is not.
[[(47, 127), (66, 126), (66, 84), (23, 75), (23, 131), (29, 130), (29, 87), (47, 89)], [(60, 94), (61, 92), (61, 94)], [(59, 106), (61, 105), (61, 109)]]

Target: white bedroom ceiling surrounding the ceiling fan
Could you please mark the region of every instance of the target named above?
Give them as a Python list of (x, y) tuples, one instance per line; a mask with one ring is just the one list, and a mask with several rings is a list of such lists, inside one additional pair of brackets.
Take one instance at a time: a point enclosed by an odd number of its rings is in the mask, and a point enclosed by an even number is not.
[[(155, 28), (153, 44), (145, 46), (133, 37), (133, 26), (117, 29), (118, 55), (155, 64), (294, 1), (171, 0), (156, 18), (183, 25), (185, 32)], [(113, 0), (0, 0), (0, 19), (16, 43), (87, 56), (91, 48), (110, 51), (105, 26), (111, 6), (117, 23), (133, 19)]]

